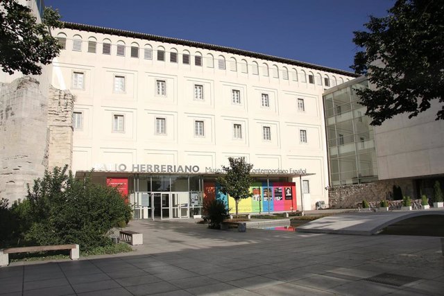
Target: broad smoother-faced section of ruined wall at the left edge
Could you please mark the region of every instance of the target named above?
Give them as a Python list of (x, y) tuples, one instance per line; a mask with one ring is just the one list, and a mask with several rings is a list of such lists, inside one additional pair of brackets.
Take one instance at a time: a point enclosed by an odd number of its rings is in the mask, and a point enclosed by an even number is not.
[(26, 184), (48, 164), (46, 97), (39, 82), (24, 77), (0, 90), (0, 197), (10, 203), (26, 196)]

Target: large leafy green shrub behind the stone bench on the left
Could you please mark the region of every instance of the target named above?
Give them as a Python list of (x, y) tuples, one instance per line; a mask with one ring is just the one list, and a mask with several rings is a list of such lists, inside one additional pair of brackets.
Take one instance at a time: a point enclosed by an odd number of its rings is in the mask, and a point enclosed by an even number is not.
[(131, 209), (119, 191), (94, 184), (89, 177), (77, 180), (65, 168), (45, 172), (28, 188), (27, 200), (17, 202), (22, 235), (30, 245), (78, 243), (82, 252), (112, 244), (112, 227), (126, 223)]

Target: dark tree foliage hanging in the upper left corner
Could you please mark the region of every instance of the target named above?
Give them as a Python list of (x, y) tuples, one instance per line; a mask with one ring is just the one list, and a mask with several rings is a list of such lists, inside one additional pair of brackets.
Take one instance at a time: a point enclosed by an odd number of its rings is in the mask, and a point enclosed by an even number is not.
[(3, 72), (21, 71), (24, 75), (40, 75), (42, 66), (56, 58), (62, 46), (49, 29), (61, 28), (56, 10), (44, 9), (41, 24), (31, 9), (16, 0), (0, 1), (0, 66)]

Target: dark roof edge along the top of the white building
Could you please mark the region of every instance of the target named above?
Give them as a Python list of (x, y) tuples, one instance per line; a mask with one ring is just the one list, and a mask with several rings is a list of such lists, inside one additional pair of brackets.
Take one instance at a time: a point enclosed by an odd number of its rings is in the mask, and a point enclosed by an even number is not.
[(233, 49), (232, 47), (227, 47), (227, 46), (219, 46), (219, 45), (214, 45), (214, 44), (207, 44), (207, 43), (203, 43), (203, 42), (195, 42), (195, 41), (183, 40), (183, 39), (178, 39), (178, 38), (163, 37), (163, 36), (158, 36), (158, 35), (137, 33), (137, 32), (132, 32), (132, 31), (124, 31), (124, 30), (113, 29), (113, 28), (105, 28), (105, 27), (101, 27), (101, 26), (76, 24), (76, 23), (71, 23), (71, 22), (67, 22), (67, 21), (65, 21), (64, 24), (65, 24), (65, 28), (70, 28), (70, 29), (75, 29), (75, 30), (80, 30), (80, 31), (103, 33), (103, 34), (110, 34), (110, 35), (119, 35), (119, 36), (133, 37), (133, 38), (139, 38), (139, 39), (144, 39), (144, 40), (153, 40), (153, 41), (158, 41), (158, 42), (167, 42), (167, 43), (172, 43), (172, 44), (193, 46), (193, 47), (198, 47), (200, 49), (223, 51), (225, 53), (232, 53), (232, 54), (236, 54), (236, 55), (245, 55), (250, 58), (271, 60), (273, 62), (282, 62), (284, 64), (293, 64), (293, 65), (299, 66), (299, 67), (316, 69), (316, 70), (320, 70), (320, 71), (326, 71), (326, 72), (336, 73), (336, 74), (345, 75), (345, 76), (352, 76), (352, 77), (359, 76), (358, 74), (355, 74), (353, 72), (344, 71), (341, 69), (323, 67), (323, 66), (319, 66), (318, 64), (310, 64), (308, 62), (300, 62), (298, 60), (291, 60), (288, 58), (279, 58), (274, 55), (266, 55), (264, 53), (255, 53), (254, 51), (245, 51), (243, 49)]

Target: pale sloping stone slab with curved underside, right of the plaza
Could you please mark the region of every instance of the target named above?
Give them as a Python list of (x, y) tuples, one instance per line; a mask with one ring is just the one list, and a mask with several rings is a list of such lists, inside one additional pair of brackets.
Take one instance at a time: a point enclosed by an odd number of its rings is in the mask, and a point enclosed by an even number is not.
[(444, 210), (368, 211), (337, 214), (301, 225), (297, 228), (297, 231), (321, 234), (373, 235), (378, 234), (384, 227), (398, 221), (426, 215), (444, 216)]

